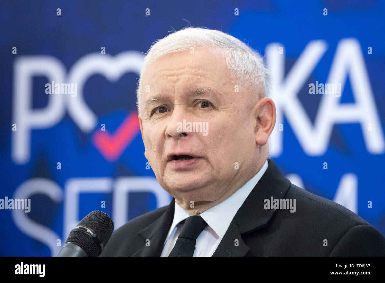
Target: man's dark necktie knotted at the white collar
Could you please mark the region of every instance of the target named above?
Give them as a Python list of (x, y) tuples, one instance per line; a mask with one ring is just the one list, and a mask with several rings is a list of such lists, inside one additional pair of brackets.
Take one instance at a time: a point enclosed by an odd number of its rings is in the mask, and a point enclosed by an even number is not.
[(182, 231), (176, 240), (169, 256), (193, 256), (196, 238), (207, 226), (206, 221), (199, 215), (188, 217), (183, 224)]

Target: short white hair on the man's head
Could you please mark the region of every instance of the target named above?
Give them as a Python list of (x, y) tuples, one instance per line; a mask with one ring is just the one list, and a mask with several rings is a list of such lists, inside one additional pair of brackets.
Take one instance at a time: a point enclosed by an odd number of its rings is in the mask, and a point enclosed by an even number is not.
[(186, 27), (167, 35), (163, 39), (156, 40), (148, 50), (136, 89), (136, 104), (139, 113), (142, 75), (147, 64), (159, 59), (162, 55), (196, 46), (218, 47), (224, 55), (233, 81), (240, 82), (245, 89), (255, 92), (253, 102), (268, 96), (271, 88), (271, 75), (258, 52), (253, 52), (241, 40), (219, 30)]

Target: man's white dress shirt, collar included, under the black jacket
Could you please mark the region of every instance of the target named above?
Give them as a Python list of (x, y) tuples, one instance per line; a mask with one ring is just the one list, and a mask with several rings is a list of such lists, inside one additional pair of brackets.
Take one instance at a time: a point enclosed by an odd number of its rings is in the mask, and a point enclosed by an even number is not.
[[(238, 209), (242, 206), (259, 179), (261, 179), (267, 167), (268, 161), (266, 160), (261, 170), (244, 184), (242, 188), (238, 189), (238, 191), (223, 202), (199, 214), (208, 225), (196, 239), (193, 256), (213, 255)], [(183, 224), (180, 222), (189, 216), (190, 215), (175, 202), (174, 220), (172, 221), (169, 233), (164, 242), (161, 256), (168, 256), (170, 254), (183, 227)]]

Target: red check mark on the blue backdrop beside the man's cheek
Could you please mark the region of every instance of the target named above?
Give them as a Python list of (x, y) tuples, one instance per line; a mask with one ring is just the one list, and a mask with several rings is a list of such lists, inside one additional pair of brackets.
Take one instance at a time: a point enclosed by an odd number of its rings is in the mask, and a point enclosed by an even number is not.
[(92, 137), (95, 147), (108, 161), (115, 161), (121, 156), (130, 142), (140, 131), (137, 112), (132, 112), (117, 128), (113, 135), (108, 131), (97, 131)]

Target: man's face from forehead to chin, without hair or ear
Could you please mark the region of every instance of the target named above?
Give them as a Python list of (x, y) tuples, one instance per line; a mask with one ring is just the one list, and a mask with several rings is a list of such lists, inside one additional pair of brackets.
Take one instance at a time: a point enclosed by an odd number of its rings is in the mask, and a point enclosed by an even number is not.
[[(139, 116), (145, 156), (159, 184), (178, 201), (215, 201), (242, 178), (239, 169), (256, 149), (250, 116), (254, 94), (242, 87), (232, 82), (224, 58), (205, 47), (147, 65)], [(186, 125), (202, 122), (206, 133), (182, 136), (178, 125), (182, 129), (183, 120)], [(180, 157), (174, 155), (194, 158), (175, 160)]]

